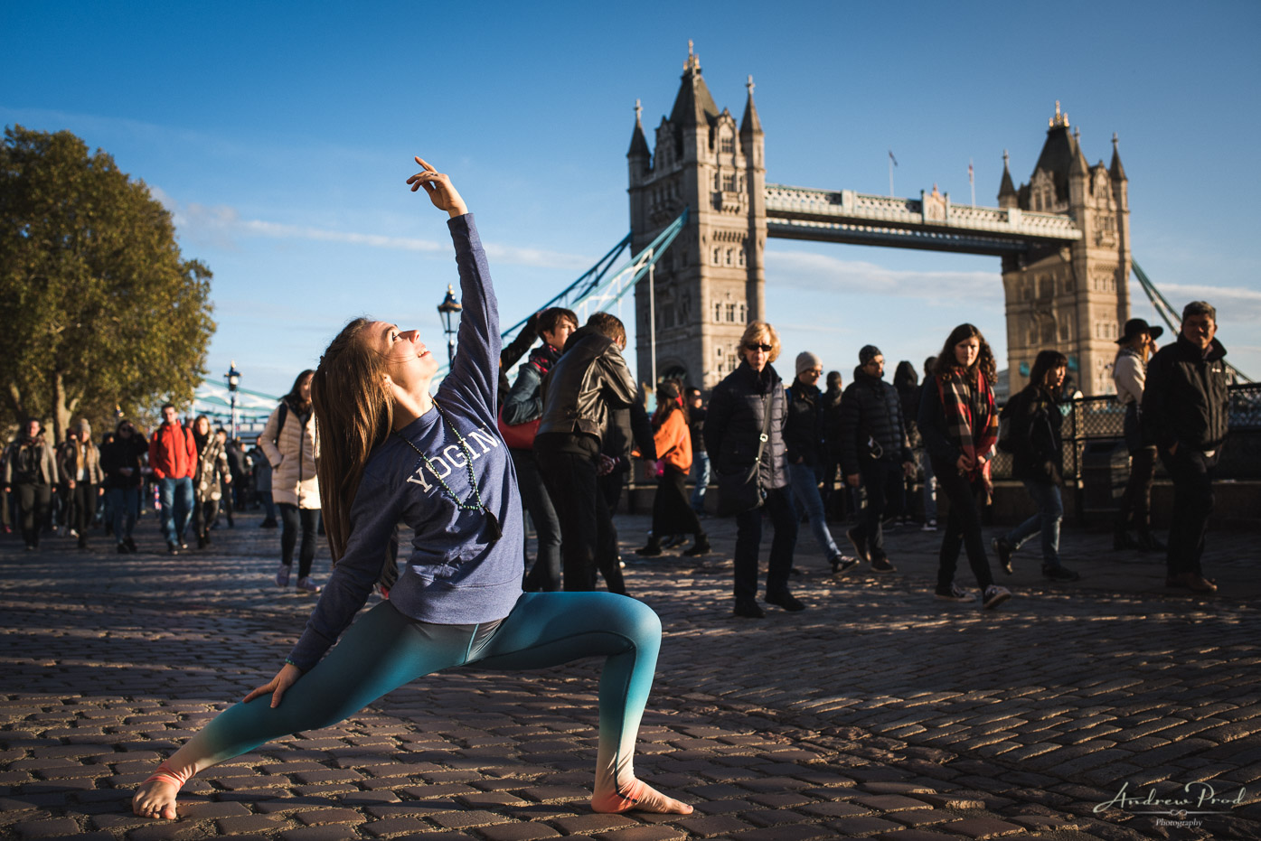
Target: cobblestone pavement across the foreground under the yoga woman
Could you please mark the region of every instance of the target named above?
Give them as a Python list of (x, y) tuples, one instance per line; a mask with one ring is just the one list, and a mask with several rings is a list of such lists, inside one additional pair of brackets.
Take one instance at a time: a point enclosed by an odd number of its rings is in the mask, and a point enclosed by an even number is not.
[(748, 620), (730, 521), (706, 521), (699, 562), (641, 561), (647, 518), (618, 525), (628, 586), (666, 627), (637, 770), (694, 815), (590, 811), (583, 662), (424, 678), (207, 772), (180, 821), (132, 817), (134, 786), (275, 672), (311, 604), (271, 583), (279, 538), (256, 516), (178, 557), (149, 517), (140, 555), (0, 538), (0, 835), (1261, 838), (1256, 535), (1209, 535), (1222, 595), (1199, 599), (1165, 590), (1159, 559), (1066, 532), (1082, 581), (1044, 583), (1021, 554), (1016, 596), (982, 613), (932, 599), (938, 535), (892, 532), (897, 572), (835, 580), (803, 527), (808, 609)]

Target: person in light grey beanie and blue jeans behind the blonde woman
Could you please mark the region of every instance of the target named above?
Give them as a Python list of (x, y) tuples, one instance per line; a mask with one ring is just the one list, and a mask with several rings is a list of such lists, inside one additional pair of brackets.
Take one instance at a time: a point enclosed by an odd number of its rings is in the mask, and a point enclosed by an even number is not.
[(818, 496), (818, 478), (823, 467), (823, 392), (816, 385), (823, 376), (822, 361), (803, 351), (797, 354), (797, 377), (788, 386), (788, 415), (784, 419), (784, 461), (796, 508), (806, 512), (815, 542), (823, 552), (834, 574), (845, 575), (857, 565), (856, 557), (845, 557), (832, 540), (823, 516), (823, 499)]

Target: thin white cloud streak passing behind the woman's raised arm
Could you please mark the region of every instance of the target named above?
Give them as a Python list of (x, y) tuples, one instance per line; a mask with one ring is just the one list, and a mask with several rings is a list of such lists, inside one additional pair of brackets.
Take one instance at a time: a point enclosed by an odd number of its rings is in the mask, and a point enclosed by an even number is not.
[[(449, 242), (436, 242), (417, 237), (390, 237), (378, 233), (357, 233), (353, 231), (334, 231), (265, 219), (242, 219), (236, 208), (227, 206), (206, 206), (190, 202), (180, 204), (159, 187), (150, 187), (155, 199), (171, 212), (175, 227), (182, 237), (206, 243), (222, 250), (236, 250), (241, 237), (265, 237), (270, 240), (310, 240), (368, 248), (390, 248), (396, 251), (417, 251), (443, 253), (450, 250)], [(590, 266), (593, 257), (567, 255), (541, 248), (522, 248), (504, 245), (487, 245), (487, 256), (497, 264), (513, 266), (533, 266), (538, 269), (583, 270)]]

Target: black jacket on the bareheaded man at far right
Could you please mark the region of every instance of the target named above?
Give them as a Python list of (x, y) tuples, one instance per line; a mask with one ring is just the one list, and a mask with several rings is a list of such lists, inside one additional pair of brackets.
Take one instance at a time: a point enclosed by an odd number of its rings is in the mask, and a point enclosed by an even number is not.
[(1231, 397), (1224, 356), (1217, 339), (1206, 356), (1179, 333), (1148, 362), (1142, 425), (1161, 450), (1174, 444), (1216, 450), (1226, 441)]

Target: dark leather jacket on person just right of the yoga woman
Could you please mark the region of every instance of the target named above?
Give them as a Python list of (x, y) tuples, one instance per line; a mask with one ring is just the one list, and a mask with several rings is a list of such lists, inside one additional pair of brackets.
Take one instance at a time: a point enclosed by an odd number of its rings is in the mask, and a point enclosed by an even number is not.
[(543, 378), (543, 414), (538, 434), (585, 432), (600, 440), (609, 412), (636, 397), (634, 377), (613, 339), (580, 328)]

